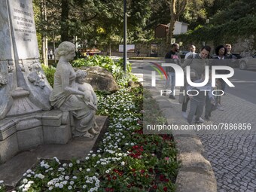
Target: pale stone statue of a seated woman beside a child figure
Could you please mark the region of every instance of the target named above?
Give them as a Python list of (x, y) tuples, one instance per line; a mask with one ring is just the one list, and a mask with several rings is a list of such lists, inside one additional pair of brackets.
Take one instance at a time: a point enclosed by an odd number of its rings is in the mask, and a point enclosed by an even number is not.
[(53, 91), (50, 94), (50, 105), (61, 111), (70, 111), (75, 120), (74, 136), (93, 137), (98, 134), (95, 126), (96, 110), (88, 106), (90, 96), (78, 89), (75, 83), (76, 73), (69, 60), (75, 57), (75, 44), (64, 41), (55, 51), (59, 62), (54, 74)]

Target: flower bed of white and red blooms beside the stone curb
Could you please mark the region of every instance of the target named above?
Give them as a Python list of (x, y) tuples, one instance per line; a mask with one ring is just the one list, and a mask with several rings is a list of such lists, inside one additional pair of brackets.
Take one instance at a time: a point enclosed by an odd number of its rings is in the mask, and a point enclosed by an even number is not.
[(108, 115), (110, 125), (98, 150), (83, 161), (42, 160), (16, 191), (174, 191), (175, 144), (169, 135), (143, 134), (142, 102), (141, 88), (99, 95), (98, 113)]

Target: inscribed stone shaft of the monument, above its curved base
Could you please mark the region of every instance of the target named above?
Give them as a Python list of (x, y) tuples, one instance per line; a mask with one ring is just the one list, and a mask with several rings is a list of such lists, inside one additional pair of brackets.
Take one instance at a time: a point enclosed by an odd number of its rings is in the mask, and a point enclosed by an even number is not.
[(32, 1), (2, 1), (0, 118), (50, 110), (51, 91), (39, 62)]

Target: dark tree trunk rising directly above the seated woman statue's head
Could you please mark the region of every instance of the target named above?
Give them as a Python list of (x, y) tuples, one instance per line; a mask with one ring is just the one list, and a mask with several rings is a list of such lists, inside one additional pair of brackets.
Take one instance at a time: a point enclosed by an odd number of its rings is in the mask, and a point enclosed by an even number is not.
[(69, 19), (69, 0), (62, 0), (61, 18), (60, 18), (61, 41), (69, 41), (69, 26), (66, 23), (68, 19)]

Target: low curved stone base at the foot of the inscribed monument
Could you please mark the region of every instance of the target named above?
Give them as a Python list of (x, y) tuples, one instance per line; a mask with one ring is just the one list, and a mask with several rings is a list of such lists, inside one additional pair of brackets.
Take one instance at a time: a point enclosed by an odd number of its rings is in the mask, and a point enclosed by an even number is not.
[(0, 163), (41, 144), (64, 144), (72, 138), (69, 113), (41, 111), (0, 120)]

